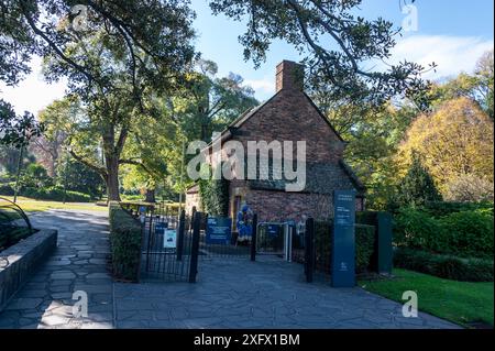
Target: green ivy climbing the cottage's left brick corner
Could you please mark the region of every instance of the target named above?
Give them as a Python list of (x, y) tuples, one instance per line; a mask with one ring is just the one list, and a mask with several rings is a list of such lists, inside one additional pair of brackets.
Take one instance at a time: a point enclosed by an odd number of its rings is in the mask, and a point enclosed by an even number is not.
[[(216, 172), (220, 172), (218, 167)], [(211, 167), (204, 165), (201, 173), (211, 175)], [(229, 182), (222, 176), (209, 176), (208, 179), (199, 180), (199, 197), (201, 209), (210, 216), (228, 216), (229, 211)]]

